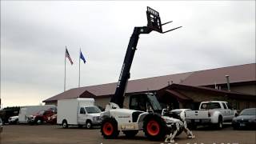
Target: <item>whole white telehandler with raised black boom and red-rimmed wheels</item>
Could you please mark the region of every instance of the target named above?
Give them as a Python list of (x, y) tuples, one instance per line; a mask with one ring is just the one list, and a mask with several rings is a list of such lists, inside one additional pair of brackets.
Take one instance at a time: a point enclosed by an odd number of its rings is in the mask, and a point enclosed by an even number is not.
[[(138, 130), (143, 130), (150, 140), (174, 142), (174, 137), (184, 130), (188, 138), (194, 138), (192, 132), (186, 127), (185, 119), (170, 118), (166, 116), (166, 110), (162, 110), (154, 94), (135, 94), (130, 96), (130, 109), (123, 109), (124, 95), (128, 79), (130, 78), (130, 66), (138, 43), (139, 34), (149, 34), (151, 31), (162, 32), (162, 26), (170, 23), (161, 23), (159, 13), (147, 7), (147, 26), (134, 27), (130, 42), (126, 50), (126, 56), (122, 64), (122, 70), (118, 79), (115, 94), (110, 103), (106, 105), (102, 113), (101, 133), (104, 138), (117, 138), (120, 131), (126, 137), (134, 137)], [(182, 26), (176, 27), (176, 30)]]

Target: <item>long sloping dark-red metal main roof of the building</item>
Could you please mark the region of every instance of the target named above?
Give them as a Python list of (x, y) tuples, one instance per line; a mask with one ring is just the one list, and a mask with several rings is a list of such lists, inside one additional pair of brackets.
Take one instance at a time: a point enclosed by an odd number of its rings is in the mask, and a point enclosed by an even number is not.
[[(214, 85), (214, 83), (222, 84), (226, 83), (225, 75), (230, 75), (230, 83), (256, 81), (255, 67), (256, 64), (252, 63), (240, 66), (229, 66), (211, 70), (200, 70), (182, 74), (170, 74), (153, 78), (130, 80), (127, 85), (126, 93), (160, 90), (163, 87), (168, 86), (168, 82), (171, 84), (171, 81), (173, 83), (190, 86), (209, 86)], [(74, 88), (48, 98), (43, 102), (54, 102), (58, 99), (66, 98), (78, 98), (86, 91), (94, 96), (106, 96), (114, 94), (115, 88), (116, 82)]]

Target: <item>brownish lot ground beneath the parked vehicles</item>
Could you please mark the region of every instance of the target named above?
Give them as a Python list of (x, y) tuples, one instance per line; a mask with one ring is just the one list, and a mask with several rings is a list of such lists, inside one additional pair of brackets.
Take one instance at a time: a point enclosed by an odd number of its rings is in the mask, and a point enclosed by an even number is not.
[[(193, 130), (196, 138), (186, 138), (182, 133), (175, 138), (177, 144), (255, 144), (255, 130), (233, 130), (231, 126), (225, 126), (222, 130), (212, 130), (209, 127)], [(0, 144), (12, 143), (92, 143), (92, 144), (153, 144), (162, 142), (151, 142), (142, 132), (134, 138), (127, 139), (122, 133), (117, 139), (104, 139), (100, 134), (100, 129), (86, 128), (79, 129), (70, 127), (62, 129), (61, 126), (29, 126), (29, 125), (6, 125), (0, 136)]]

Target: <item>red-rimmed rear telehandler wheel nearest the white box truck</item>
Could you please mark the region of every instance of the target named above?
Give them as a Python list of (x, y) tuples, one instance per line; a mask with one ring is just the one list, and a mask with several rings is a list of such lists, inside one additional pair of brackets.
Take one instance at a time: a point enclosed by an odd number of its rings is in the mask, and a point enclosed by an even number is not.
[(102, 136), (106, 139), (117, 138), (118, 131), (118, 122), (114, 118), (104, 118), (101, 126)]

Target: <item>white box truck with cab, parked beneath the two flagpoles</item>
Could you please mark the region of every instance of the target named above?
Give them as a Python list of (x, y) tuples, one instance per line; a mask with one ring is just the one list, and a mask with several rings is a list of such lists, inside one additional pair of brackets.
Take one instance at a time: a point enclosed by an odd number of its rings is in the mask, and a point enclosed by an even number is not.
[(57, 124), (67, 128), (70, 125), (91, 128), (100, 125), (101, 110), (94, 106), (94, 98), (74, 98), (58, 100)]

